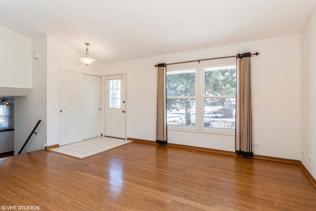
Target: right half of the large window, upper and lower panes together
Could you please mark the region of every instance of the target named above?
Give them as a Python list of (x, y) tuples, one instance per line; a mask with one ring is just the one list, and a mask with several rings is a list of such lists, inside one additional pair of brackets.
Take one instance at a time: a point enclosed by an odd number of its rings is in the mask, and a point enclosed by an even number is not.
[(236, 65), (204, 67), (202, 127), (235, 129)]

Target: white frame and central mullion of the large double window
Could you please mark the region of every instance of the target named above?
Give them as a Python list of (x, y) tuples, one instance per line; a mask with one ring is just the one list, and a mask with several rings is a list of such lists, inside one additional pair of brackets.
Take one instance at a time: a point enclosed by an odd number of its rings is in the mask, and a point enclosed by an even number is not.
[[(230, 128), (214, 128), (214, 127), (204, 127), (204, 70), (209, 67), (219, 67), (219, 66), (230, 66), (237, 65), (236, 58), (224, 58), (215, 60), (200, 61), (199, 63), (183, 63), (168, 65), (166, 72), (175, 72), (187, 69), (196, 68), (196, 126), (177, 126), (167, 124), (168, 130), (178, 130), (187, 132), (198, 132), (198, 133), (212, 133), (221, 135), (231, 135), (235, 136), (236, 129)], [(234, 96), (236, 98), (236, 95)]]

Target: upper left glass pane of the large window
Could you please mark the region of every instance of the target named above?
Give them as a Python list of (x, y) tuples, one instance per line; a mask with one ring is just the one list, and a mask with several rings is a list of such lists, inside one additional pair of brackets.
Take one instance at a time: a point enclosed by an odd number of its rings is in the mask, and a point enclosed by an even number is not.
[(186, 71), (167, 72), (167, 97), (195, 96), (195, 69)]

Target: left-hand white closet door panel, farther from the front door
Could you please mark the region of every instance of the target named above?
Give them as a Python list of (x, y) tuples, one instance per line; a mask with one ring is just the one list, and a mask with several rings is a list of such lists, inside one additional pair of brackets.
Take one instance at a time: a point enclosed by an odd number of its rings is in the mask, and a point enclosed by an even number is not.
[(59, 70), (59, 145), (83, 140), (83, 74)]

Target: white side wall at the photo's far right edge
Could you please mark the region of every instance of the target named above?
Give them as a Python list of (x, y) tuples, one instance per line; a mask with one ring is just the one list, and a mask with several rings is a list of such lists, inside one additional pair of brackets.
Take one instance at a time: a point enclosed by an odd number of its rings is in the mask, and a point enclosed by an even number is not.
[(301, 162), (316, 178), (316, 7), (302, 32), (301, 84)]

